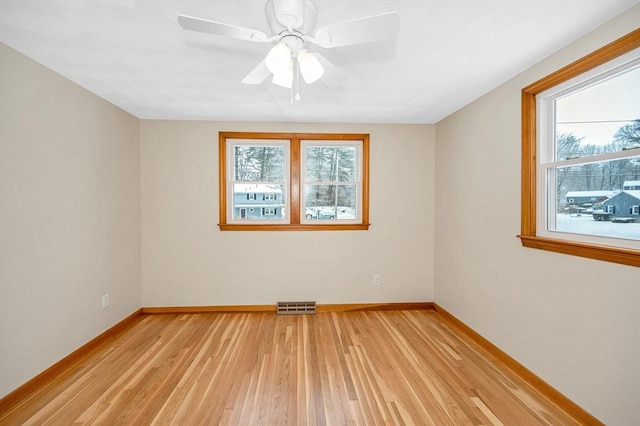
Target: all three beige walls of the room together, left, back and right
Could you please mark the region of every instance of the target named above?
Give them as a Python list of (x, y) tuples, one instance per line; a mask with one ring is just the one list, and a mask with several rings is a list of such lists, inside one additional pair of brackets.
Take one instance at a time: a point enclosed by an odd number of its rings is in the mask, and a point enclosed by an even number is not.
[[(140, 306), (435, 300), (600, 419), (640, 424), (638, 269), (516, 238), (520, 89), (639, 20), (435, 126), (139, 122), (1, 46), (0, 395)], [(370, 133), (371, 229), (220, 232), (220, 130)]]

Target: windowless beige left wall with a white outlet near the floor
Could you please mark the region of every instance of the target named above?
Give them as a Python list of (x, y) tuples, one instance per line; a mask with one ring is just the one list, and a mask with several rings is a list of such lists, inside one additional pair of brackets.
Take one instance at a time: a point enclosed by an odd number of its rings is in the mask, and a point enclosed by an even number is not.
[(140, 308), (138, 130), (0, 45), (0, 396)]

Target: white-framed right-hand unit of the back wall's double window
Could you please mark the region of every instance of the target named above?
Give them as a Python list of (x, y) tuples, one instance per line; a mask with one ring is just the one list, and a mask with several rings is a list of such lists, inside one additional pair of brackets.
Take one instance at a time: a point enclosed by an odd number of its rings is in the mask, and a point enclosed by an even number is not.
[(360, 221), (362, 141), (302, 141), (302, 223)]

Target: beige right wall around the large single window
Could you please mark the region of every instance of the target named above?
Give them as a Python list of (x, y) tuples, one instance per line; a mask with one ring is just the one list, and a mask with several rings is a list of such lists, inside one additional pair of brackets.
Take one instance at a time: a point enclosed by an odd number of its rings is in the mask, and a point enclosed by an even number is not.
[(436, 125), (435, 301), (611, 425), (640, 424), (640, 270), (521, 247), (520, 90), (639, 24), (636, 6)]

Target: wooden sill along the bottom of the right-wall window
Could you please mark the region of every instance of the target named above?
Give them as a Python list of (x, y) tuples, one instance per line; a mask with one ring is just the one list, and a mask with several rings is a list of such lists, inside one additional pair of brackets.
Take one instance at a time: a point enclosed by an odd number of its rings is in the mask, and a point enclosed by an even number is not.
[(527, 235), (518, 235), (518, 238), (523, 247), (640, 267), (640, 252), (636, 250)]

